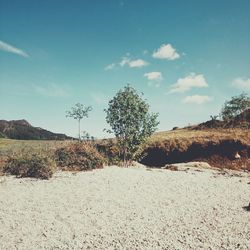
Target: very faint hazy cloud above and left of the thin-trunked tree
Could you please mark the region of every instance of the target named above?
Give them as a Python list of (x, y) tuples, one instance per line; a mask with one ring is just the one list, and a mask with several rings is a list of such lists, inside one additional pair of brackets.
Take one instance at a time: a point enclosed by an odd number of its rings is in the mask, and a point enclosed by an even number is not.
[(64, 90), (61, 86), (52, 83), (47, 86), (33, 86), (34, 91), (42, 96), (47, 97), (65, 97), (68, 96), (68, 91)]

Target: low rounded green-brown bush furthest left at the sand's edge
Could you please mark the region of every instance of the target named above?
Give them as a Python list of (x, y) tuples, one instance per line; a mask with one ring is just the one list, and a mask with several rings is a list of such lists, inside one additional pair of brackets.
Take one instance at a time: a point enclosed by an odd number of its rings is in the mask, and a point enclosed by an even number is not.
[(56, 170), (55, 161), (45, 153), (22, 153), (10, 156), (3, 168), (17, 177), (49, 179)]

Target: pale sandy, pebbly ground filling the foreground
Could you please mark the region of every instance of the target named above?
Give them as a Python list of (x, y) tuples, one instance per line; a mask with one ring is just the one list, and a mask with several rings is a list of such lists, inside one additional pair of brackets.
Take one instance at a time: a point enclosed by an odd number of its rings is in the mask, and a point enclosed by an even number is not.
[(1, 178), (1, 250), (250, 246), (247, 175), (106, 167)]

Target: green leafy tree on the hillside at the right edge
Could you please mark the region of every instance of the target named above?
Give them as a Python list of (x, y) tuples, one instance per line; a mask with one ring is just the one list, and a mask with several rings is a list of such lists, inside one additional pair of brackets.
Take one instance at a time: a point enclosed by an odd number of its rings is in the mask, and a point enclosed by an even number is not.
[(247, 109), (250, 109), (250, 97), (246, 93), (242, 93), (225, 102), (221, 110), (221, 117), (224, 121), (230, 121)]

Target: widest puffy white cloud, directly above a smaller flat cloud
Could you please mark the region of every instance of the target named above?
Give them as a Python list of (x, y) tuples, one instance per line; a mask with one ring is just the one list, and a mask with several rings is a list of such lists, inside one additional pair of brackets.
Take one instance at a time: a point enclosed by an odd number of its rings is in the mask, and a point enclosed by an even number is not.
[(190, 75), (180, 78), (175, 84), (171, 86), (170, 93), (184, 93), (192, 88), (207, 88), (208, 84), (202, 74), (196, 75), (191, 73)]

